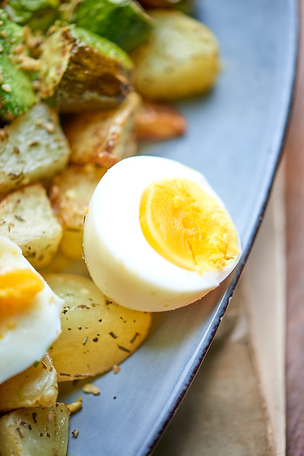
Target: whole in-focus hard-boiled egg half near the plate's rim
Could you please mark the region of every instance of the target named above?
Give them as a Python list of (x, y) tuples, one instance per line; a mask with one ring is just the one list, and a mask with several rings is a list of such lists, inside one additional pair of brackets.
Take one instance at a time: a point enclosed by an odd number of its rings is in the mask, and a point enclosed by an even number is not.
[(216, 288), (238, 263), (238, 233), (198, 171), (139, 155), (112, 166), (96, 187), (84, 253), (100, 290), (122, 306), (166, 311)]

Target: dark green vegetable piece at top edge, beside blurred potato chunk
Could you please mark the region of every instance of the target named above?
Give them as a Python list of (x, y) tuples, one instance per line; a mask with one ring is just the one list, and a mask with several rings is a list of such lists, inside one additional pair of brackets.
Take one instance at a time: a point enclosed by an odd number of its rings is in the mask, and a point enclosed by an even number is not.
[(144, 41), (152, 30), (150, 17), (132, 0), (71, 1), (62, 7), (66, 8), (64, 19), (106, 37), (127, 52)]

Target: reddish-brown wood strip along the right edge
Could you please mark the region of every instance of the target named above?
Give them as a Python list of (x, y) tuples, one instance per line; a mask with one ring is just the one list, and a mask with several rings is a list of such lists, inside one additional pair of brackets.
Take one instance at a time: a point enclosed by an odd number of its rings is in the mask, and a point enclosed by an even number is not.
[(304, 455), (304, 0), (294, 107), (285, 145), (287, 455)]

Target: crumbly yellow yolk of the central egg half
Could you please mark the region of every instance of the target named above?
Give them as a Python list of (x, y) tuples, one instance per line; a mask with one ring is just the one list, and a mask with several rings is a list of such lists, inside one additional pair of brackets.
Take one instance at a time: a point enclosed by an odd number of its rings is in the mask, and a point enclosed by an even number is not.
[(153, 249), (182, 268), (220, 270), (239, 253), (231, 219), (193, 181), (153, 182), (142, 193), (139, 219)]

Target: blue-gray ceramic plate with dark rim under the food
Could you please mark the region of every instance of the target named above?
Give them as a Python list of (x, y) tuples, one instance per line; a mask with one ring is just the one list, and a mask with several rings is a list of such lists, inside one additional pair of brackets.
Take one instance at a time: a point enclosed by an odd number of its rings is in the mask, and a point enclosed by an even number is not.
[[(71, 416), (69, 455), (151, 452), (222, 320), (279, 160), (294, 80), (296, 0), (198, 1), (196, 16), (218, 36), (223, 71), (207, 96), (179, 103), (188, 120), (187, 135), (145, 145), (141, 153), (169, 157), (203, 172), (238, 228), (243, 258), (201, 301), (155, 314), (147, 340), (122, 363), (121, 371), (95, 379), (101, 394), (82, 394), (83, 408)], [(78, 384), (61, 399), (69, 403), (80, 395)], [(77, 439), (71, 436), (75, 428)]]

